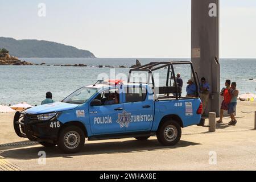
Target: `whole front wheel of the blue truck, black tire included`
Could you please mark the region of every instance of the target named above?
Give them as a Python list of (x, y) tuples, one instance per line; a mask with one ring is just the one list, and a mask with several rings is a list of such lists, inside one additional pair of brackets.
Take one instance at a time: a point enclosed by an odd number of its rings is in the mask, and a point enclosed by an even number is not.
[(65, 154), (79, 152), (85, 143), (84, 132), (77, 126), (64, 127), (59, 134), (57, 146)]

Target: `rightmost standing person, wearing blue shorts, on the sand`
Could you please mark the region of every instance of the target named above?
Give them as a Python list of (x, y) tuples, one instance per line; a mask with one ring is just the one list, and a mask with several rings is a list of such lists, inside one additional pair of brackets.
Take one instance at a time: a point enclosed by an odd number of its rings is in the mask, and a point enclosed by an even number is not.
[(230, 90), (230, 94), (232, 96), (232, 100), (230, 101), (230, 103), (228, 105), (228, 114), (230, 114), (230, 118), (231, 118), (229, 125), (236, 125), (237, 120), (234, 117), (234, 113), (236, 112), (237, 98), (238, 98), (238, 94), (239, 94), (239, 91), (237, 90), (237, 83), (232, 82), (231, 88), (232, 89)]

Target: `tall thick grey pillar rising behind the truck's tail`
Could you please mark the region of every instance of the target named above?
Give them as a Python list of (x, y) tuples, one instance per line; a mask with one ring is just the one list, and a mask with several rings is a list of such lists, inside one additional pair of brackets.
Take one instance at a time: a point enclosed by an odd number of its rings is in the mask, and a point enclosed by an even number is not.
[(219, 1), (191, 0), (191, 59), (199, 79), (205, 77), (211, 93), (205, 113), (220, 115)]

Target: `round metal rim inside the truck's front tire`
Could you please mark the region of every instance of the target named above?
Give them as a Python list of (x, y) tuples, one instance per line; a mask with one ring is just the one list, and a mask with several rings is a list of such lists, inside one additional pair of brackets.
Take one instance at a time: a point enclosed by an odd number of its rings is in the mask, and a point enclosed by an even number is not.
[(65, 134), (64, 144), (65, 147), (69, 149), (74, 149), (79, 146), (80, 143), (80, 135), (76, 131), (69, 131)]

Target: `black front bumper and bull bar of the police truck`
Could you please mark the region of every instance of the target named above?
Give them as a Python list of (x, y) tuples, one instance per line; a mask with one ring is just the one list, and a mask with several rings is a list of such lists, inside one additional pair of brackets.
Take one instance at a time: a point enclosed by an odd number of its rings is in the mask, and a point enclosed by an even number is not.
[[(59, 125), (52, 125), (52, 123)], [(37, 115), (16, 112), (14, 115), (15, 133), (22, 138), (28, 138), (36, 142), (56, 142), (61, 126), (63, 125), (57, 118), (50, 121), (39, 122)], [(54, 127), (53, 127), (54, 126)]]

